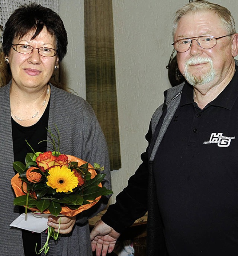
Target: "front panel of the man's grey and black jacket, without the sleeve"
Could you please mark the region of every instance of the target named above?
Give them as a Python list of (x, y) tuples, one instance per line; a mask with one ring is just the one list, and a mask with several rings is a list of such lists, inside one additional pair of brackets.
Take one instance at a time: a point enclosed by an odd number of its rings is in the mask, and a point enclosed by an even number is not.
[(152, 140), (148, 149), (148, 222), (147, 222), (147, 255), (167, 256), (164, 241), (164, 227), (158, 208), (153, 161), (164, 134), (176, 112), (184, 83), (165, 91), (164, 104), (154, 113), (151, 119)]

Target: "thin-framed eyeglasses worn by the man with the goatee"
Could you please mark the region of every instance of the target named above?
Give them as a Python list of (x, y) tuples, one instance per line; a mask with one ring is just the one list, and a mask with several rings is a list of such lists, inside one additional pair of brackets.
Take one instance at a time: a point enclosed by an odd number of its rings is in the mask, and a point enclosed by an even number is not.
[[(231, 35), (226, 35), (231, 36)], [(192, 41), (196, 40), (197, 44), (203, 49), (210, 49), (216, 45), (216, 40), (225, 36), (215, 38), (215, 36), (195, 36), (191, 38), (183, 38), (175, 41), (172, 45), (177, 52), (186, 52), (192, 45)], [(196, 38), (196, 39), (193, 39)]]

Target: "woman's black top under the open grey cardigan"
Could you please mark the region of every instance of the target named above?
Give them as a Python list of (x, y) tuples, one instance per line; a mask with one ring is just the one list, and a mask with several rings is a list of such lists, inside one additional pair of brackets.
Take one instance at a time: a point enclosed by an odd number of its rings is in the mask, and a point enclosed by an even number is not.
[[(46, 142), (39, 143), (42, 140), (47, 140), (47, 130), (49, 118), (49, 104), (46, 107), (44, 114), (39, 121), (29, 127), (23, 127), (17, 124), (12, 118), (12, 138), (13, 138), (13, 151), (14, 161), (21, 161), (25, 163), (27, 153), (32, 152), (31, 148), (26, 143), (26, 140), (35, 152), (45, 152)], [(33, 152), (32, 152), (33, 153)], [(19, 207), (19, 212), (25, 212), (25, 208)], [(41, 249), (41, 234), (33, 233), (27, 230), (22, 230), (22, 239), (25, 256), (34, 256), (36, 243), (37, 251)]]

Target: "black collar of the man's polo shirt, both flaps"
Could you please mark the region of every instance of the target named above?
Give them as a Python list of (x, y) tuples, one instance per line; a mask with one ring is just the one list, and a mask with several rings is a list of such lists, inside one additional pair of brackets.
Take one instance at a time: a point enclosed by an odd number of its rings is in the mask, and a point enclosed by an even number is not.
[[(237, 97), (238, 97), (238, 66), (236, 66), (235, 74), (232, 77), (229, 84), (216, 97), (216, 99), (208, 103), (208, 105), (219, 106), (219, 107), (231, 110)], [(193, 86), (187, 83), (187, 81), (185, 81), (179, 106), (181, 107), (188, 104), (194, 104)]]

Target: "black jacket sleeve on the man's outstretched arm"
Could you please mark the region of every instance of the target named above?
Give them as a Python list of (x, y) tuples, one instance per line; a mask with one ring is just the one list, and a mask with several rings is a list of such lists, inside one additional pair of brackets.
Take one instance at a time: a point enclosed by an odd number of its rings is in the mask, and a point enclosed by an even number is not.
[(116, 196), (116, 202), (110, 205), (102, 216), (102, 221), (118, 233), (131, 226), (135, 220), (147, 212), (148, 190), (148, 148), (152, 138), (151, 124), (145, 136), (147, 150), (141, 154), (142, 163), (128, 180), (128, 185)]

